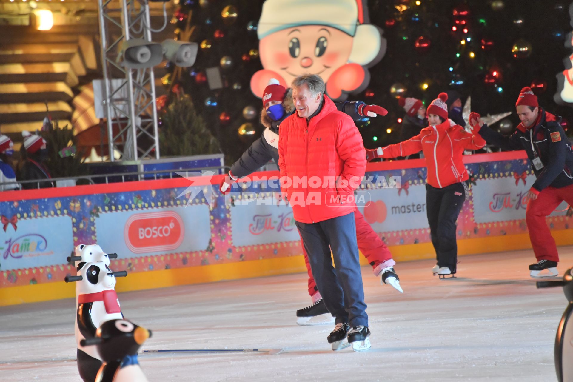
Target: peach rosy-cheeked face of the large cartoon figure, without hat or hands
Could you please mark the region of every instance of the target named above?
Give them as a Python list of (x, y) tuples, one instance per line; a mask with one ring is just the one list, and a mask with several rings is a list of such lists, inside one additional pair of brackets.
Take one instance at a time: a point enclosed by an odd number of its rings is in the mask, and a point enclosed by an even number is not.
[(287, 84), (302, 74), (319, 74), (324, 82), (348, 62), (352, 36), (321, 25), (304, 25), (277, 31), (260, 41), (264, 68), (274, 70)]

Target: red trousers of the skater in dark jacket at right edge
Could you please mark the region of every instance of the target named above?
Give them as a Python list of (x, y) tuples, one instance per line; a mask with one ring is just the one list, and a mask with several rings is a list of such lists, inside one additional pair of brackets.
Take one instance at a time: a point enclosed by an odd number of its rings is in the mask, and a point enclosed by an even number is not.
[(555, 211), (565, 200), (570, 206), (573, 206), (573, 184), (571, 186), (555, 188), (547, 187), (539, 192), (537, 199), (529, 200), (525, 221), (529, 230), (529, 239), (533, 246), (533, 253), (537, 261), (550, 260), (559, 262), (557, 246), (555, 240), (551, 237), (551, 231), (545, 222), (545, 216)]

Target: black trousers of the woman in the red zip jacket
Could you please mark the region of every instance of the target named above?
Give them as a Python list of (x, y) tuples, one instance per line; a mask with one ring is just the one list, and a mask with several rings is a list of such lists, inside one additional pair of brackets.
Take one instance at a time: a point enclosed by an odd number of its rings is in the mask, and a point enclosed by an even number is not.
[(426, 184), (426, 211), (430, 225), (431, 243), (434, 245), (438, 266), (449, 267), (456, 273), (458, 245), (456, 220), (465, 201), (462, 183), (435, 188)]

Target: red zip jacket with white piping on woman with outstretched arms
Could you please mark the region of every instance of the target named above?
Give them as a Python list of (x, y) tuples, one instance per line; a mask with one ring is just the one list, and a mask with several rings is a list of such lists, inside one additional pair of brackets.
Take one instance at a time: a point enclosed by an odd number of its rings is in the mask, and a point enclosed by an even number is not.
[(464, 149), (477, 150), (484, 146), (485, 140), (479, 134), (472, 135), (448, 120), (423, 128), (407, 141), (382, 148), (382, 157), (394, 158), (423, 151), (428, 168), (427, 183), (444, 188), (468, 180), (468, 171), (462, 162)]

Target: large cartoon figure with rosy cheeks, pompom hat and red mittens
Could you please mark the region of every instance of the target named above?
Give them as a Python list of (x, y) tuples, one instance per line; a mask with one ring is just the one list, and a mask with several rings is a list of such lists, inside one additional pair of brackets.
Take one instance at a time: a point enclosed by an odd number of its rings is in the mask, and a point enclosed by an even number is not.
[(251, 78), (253, 93), (261, 97), (270, 78), (289, 86), (302, 74), (321, 76), (334, 100), (362, 91), (367, 68), (386, 52), (365, 15), (363, 0), (266, 0), (257, 29), (264, 69)]

